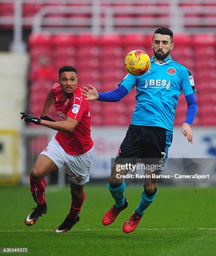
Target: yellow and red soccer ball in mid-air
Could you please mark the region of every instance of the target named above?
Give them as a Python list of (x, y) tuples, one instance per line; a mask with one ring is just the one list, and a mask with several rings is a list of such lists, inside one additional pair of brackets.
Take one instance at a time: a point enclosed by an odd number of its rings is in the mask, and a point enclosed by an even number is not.
[(130, 51), (125, 57), (125, 68), (127, 72), (134, 76), (145, 74), (151, 66), (151, 61), (145, 51)]

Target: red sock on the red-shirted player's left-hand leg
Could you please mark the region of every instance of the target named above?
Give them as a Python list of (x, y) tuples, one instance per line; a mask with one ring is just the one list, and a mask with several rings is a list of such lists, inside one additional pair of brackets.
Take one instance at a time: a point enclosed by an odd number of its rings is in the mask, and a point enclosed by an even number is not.
[(45, 203), (45, 190), (46, 181), (45, 179), (34, 180), (30, 175), (30, 191), (33, 199), (38, 205), (43, 205)]

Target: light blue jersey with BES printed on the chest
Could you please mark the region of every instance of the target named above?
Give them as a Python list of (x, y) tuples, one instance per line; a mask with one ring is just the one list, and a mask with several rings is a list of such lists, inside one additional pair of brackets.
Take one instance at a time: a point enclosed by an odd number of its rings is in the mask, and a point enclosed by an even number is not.
[(135, 110), (131, 124), (159, 126), (173, 131), (175, 108), (183, 91), (187, 96), (196, 92), (191, 72), (168, 57), (163, 64), (151, 58), (150, 70), (139, 77), (127, 74), (119, 82), (130, 92), (136, 86)]

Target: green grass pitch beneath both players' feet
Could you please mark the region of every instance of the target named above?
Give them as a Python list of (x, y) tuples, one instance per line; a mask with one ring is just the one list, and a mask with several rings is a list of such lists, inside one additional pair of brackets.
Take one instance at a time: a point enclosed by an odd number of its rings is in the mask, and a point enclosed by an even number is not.
[[(216, 188), (158, 186), (158, 195), (137, 230), (122, 225), (139, 203), (142, 185), (126, 187), (129, 202), (111, 225), (101, 223), (113, 200), (104, 185), (86, 185), (80, 222), (54, 233), (70, 207), (69, 187), (47, 187), (48, 212), (32, 227), (25, 217), (35, 207), (28, 187), (0, 188), (0, 247), (29, 248), (28, 255), (216, 255)], [(20, 254), (20, 253), (19, 253)]]

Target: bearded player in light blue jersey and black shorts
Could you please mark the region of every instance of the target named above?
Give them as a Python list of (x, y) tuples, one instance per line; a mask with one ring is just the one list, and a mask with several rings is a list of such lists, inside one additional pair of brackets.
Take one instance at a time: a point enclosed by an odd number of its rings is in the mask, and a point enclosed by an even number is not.
[[(152, 159), (153, 164), (165, 164), (173, 138), (175, 108), (181, 92), (184, 93), (188, 104), (186, 120), (181, 131), (184, 136), (187, 136), (188, 142), (193, 143), (191, 125), (197, 112), (194, 95), (196, 89), (191, 72), (170, 56), (173, 47), (173, 32), (169, 28), (160, 27), (152, 38), (154, 56), (151, 59), (151, 68), (146, 74), (139, 77), (127, 74), (119, 82), (119, 87), (111, 92), (98, 93), (90, 84), (89, 88), (84, 87), (82, 91), (87, 97), (86, 100), (116, 102), (134, 87), (137, 90), (137, 102), (131, 124), (119, 148), (109, 177), (108, 188), (115, 204), (105, 213), (103, 225), (114, 222), (117, 215), (128, 205), (124, 194), (125, 182), (122, 178), (117, 179), (117, 164), (131, 163), (134, 159), (145, 159), (144, 161)], [(160, 174), (160, 171), (156, 173)], [(127, 172), (121, 170), (120, 174)], [(140, 204), (123, 225), (122, 230), (125, 233), (135, 230), (145, 210), (155, 199), (157, 181), (152, 178), (144, 180)]]

